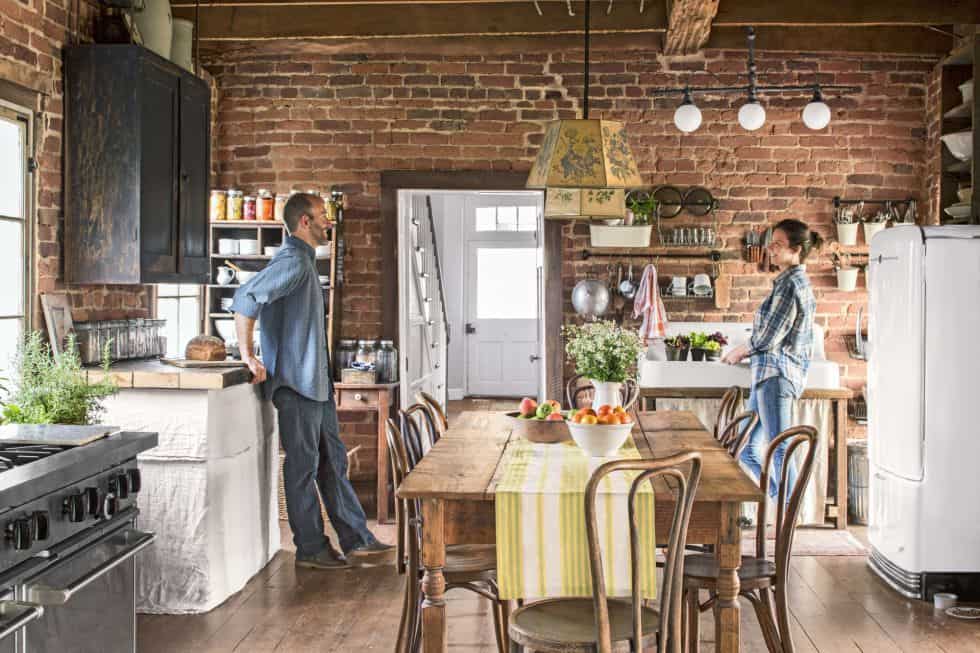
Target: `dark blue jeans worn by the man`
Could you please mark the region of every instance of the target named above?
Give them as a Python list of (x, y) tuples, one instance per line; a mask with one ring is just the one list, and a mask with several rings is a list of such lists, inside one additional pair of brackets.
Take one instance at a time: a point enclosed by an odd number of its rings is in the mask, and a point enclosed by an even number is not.
[(344, 553), (374, 542), (364, 509), (347, 479), (347, 448), (340, 441), (333, 399), (314, 401), (282, 387), (272, 403), (279, 411), (279, 438), (286, 452), (283, 484), (296, 555), (313, 556), (327, 545), (321, 496)]

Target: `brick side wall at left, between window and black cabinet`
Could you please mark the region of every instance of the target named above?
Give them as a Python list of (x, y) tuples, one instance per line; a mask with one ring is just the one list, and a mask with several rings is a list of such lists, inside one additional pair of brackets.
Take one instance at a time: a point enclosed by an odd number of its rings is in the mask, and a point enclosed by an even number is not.
[[(69, 16), (77, 6), (78, 15)], [(69, 42), (69, 25), (77, 38), (90, 40), (96, 9), (88, 2), (66, 0), (0, 0), (0, 79), (46, 93), (37, 133), (35, 260), (38, 292), (68, 291), (75, 320), (145, 316), (149, 297), (142, 286), (72, 286), (64, 283), (64, 211), (62, 150), (64, 98), (61, 48)], [(42, 329), (40, 302), (34, 326)]]

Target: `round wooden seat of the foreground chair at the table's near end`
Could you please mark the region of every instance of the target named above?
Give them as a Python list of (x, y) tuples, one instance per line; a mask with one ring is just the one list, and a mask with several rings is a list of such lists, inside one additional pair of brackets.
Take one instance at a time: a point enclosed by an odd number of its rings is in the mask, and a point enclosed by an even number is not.
[[(609, 624), (613, 650), (629, 651), (633, 636), (633, 612), (630, 601), (609, 600)], [(549, 599), (525, 605), (510, 615), (511, 641), (532, 650), (562, 653), (594, 653), (596, 637), (595, 602), (589, 598)], [(642, 608), (643, 646), (656, 645), (660, 613)]]

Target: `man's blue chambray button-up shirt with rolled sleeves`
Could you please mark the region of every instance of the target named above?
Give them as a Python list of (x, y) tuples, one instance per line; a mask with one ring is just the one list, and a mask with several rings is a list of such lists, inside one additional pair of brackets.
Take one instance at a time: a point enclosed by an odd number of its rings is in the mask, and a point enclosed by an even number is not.
[(287, 236), (269, 264), (235, 293), (231, 310), (259, 320), (266, 397), (283, 386), (315, 401), (333, 398), (316, 252)]

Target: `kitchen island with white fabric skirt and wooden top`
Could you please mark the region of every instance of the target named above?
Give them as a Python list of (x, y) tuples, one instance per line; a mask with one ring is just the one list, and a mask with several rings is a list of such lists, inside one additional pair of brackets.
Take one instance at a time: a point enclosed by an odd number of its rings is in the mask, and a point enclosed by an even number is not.
[(111, 372), (120, 390), (102, 422), (160, 438), (138, 459), (139, 524), (157, 539), (136, 565), (136, 609), (207, 612), (279, 550), (275, 409), (244, 368), (139, 361)]

